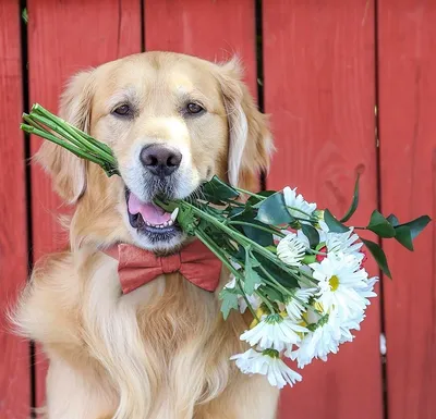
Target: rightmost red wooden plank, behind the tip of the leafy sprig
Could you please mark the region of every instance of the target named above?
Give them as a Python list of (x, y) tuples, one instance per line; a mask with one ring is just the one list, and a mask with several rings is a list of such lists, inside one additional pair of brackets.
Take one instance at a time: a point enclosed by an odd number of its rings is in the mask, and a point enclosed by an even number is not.
[[(436, 3), (378, 3), (382, 208), (400, 220), (436, 217)], [(436, 412), (436, 229), (410, 254), (386, 241), (388, 417)]]

